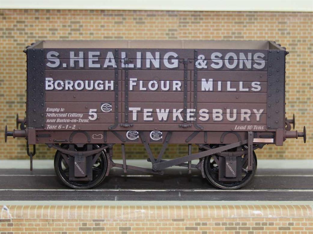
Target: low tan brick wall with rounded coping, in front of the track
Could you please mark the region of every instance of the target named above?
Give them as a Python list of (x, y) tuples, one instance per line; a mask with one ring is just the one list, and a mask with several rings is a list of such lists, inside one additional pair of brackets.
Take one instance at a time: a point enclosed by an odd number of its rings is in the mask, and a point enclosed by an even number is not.
[(9, 233), (311, 234), (312, 206), (8, 206)]

